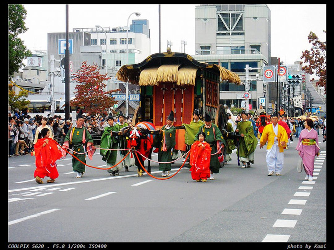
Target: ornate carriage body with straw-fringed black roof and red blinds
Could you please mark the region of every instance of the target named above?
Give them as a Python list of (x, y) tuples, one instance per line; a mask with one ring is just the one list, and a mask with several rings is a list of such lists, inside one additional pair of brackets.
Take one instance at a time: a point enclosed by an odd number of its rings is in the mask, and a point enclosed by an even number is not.
[[(189, 124), (195, 109), (202, 116), (206, 112), (215, 119), (222, 109), (219, 83), (241, 83), (236, 73), (217, 64), (196, 61), (184, 53), (152, 54), (141, 63), (122, 66), (116, 76), (140, 86), (140, 105), (134, 120), (150, 121), (157, 128), (165, 124), (171, 110), (174, 126)], [(181, 131), (178, 137), (182, 137)]]

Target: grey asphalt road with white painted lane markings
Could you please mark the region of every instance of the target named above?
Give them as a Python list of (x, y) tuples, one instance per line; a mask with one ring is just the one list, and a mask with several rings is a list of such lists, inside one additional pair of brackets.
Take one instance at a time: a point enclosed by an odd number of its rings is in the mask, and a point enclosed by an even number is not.
[[(326, 142), (313, 182), (296, 171), (295, 145), (282, 176), (267, 176), (266, 150), (257, 147), (251, 168), (233, 154), (207, 183), (191, 180), (187, 167), (168, 180), (139, 178), (134, 167), (117, 177), (87, 167), (76, 179), (67, 156), (55, 183), (37, 184), (33, 157), (9, 158), (8, 241), (326, 242)], [(98, 153), (87, 163), (104, 167)]]

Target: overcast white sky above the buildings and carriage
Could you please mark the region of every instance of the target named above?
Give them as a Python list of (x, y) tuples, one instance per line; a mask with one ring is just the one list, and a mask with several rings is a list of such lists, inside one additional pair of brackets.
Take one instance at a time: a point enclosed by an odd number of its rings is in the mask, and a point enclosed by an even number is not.
[[(198, 4), (196, 4), (198, 5)], [(181, 52), (181, 40), (186, 41), (185, 53), (195, 54), (194, 4), (161, 4), (161, 52), (167, 40), (173, 43), (172, 51)], [(24, 4), (28, 31), (20, 38), (31, 51), (47, 49), (47, 33), (65, 32), (65, 4)], [(326, 41), (325, 4), (268, 4), (271, 10), (271, 55), (280, 57), (284, 64), (300, 60), (302, 51), (310, 49), (307, 36), (313, 31)], [(151, 53), (159, 52), (158, 4), (69, 4), (69, 32), (73, 28), (126, 26), (132, 12), (141, 15), (132, 19), (148, 19), (151, 31)], [(183, 51), (184, 52), (184, 51)]]

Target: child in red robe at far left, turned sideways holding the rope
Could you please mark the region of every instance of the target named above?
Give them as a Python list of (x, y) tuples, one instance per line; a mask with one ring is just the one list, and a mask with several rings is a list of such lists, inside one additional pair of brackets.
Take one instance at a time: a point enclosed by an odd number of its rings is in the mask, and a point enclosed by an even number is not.
[(42, 179), (50, 177), (46, 182), (53, 183), (58, 177), (56, 160), (61, 158), (56, 142), (49, 137), (50, 131), (43, 128), (38, 134), (38, 140), (34, 146), (36, 156), (36, 170), (34, 177), (37, 183), (43, 183)]

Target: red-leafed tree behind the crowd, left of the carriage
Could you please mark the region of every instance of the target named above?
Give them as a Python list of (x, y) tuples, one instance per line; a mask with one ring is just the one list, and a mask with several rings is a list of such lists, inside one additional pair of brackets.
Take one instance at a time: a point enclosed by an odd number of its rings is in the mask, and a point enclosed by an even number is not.
[(80, 69), (74, 74), (73, 80), (78, 84), (75, 86), (75, 98), (70, 101), (71, 107), (82, 107), (90, 114), (106, 113), (110, 107), (117, 103), (112, 93), (119, 89), (105, 91), (104, 81), (109, 80), (107, 74), (100, 74), (98, 65), (88, 65), (82, 62)]

